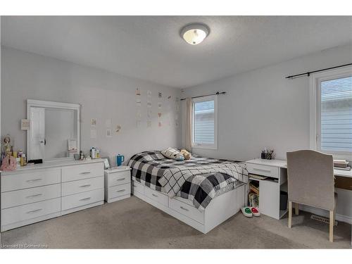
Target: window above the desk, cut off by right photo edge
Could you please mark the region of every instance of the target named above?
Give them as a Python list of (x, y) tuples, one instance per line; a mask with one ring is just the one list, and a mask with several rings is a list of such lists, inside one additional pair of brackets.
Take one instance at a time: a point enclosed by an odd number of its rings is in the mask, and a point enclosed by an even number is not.
[(312, 84), (316, 111), (315, 144), (311, 132), (311, 145), (318, 151), (332, 153), (335, 158), (351, 160), (352, 68), (313, 75)]

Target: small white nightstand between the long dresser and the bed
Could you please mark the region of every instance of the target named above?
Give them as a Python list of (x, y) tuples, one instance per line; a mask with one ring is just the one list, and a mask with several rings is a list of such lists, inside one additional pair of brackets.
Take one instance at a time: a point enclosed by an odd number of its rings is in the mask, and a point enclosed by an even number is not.
[(105, 201), (112, 203), (131, 196), (131, 168), (119, 166), (104, 172)]

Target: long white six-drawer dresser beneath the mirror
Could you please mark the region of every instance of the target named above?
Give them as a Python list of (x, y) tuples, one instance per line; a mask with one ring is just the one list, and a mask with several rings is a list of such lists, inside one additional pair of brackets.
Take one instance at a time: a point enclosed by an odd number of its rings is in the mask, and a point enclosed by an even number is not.
[(1, 172), (1, 231), (103, 204), (103, 172), (101, 159)]

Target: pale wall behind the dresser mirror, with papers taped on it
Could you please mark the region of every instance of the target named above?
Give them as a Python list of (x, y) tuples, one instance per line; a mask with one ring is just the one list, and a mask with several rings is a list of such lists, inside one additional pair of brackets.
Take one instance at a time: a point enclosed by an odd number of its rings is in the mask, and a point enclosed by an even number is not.
[[(95, 146), (101, 149), (102, 156), (113, 157), (120, 153), (127, 161), (139, 151), (180, 145), (180, 127), (175, 127), (174, 119), (179, 89), (7, 47), (2, 47), (1, 51), (1, 136), (11, 134), (15, 149), (25, 150), (26, 133), (20, 130), (20, 119), (26, 118), (26, 99), (80, 103), (81, 149), (86, 153)], [(138, 128), (136, 88), (142, 92), (142, 123)], [(148, 89), (152, 92), (152, 127), (146, 126)], [(163, 94), (162, 127), (157, 124), (158, 92)], [(170, 112), (170, 125), (165, 118), (167, 112)], [(90, 138), (91, 118), (98, 118), (96, 139)], [(106, 119), (109, 118), (113, 129), (119, 124), (122, 130), (106, 138)]]

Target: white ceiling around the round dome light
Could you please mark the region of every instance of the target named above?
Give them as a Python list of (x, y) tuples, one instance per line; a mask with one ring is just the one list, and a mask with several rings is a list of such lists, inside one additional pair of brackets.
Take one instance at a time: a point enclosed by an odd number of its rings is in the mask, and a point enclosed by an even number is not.
[[(194, 22), (210, 34), (192, 46), (180, 29)], [(3, 16), (1, 42), (185, 88), (350, 44), (352, 16)]]

